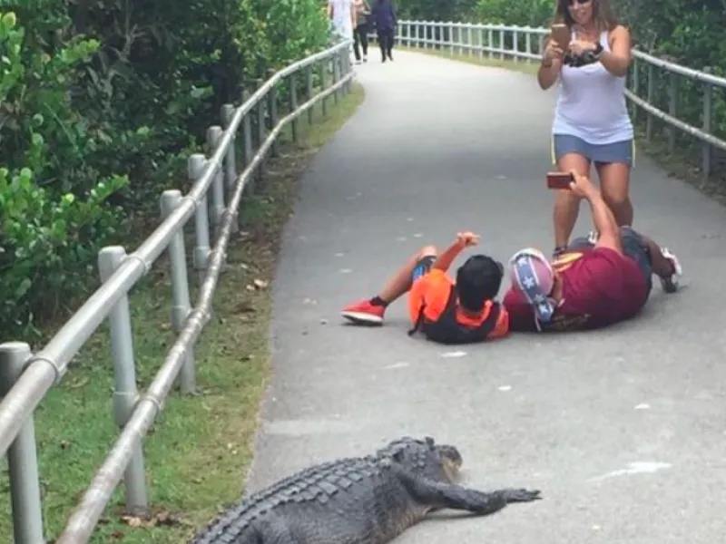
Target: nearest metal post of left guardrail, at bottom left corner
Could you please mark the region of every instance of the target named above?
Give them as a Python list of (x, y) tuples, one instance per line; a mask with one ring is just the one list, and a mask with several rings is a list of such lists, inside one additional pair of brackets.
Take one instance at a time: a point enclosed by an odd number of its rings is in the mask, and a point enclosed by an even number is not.
[[(0, 398), (13, 388), (23, 374), (25, 361), (30, 355), (30, 346), (24, 342), (0, 344)], [(7, 471), (10, 477), (15, 544), (43, 544), (43, 508), (33, 414), (27, 416), (15, 441), (7, 450)], [(5, 538), (9, 538), (9, 535), (5, 535)]]

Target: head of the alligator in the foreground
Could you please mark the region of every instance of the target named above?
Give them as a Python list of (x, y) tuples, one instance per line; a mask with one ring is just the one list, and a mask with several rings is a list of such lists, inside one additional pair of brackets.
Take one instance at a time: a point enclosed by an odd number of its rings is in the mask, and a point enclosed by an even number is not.
[(420, 474), (430, 480), (454, 483), (461, 468), (461, 453), (455, 446), (437, 444), (426, 436), (416, 439), (405, 436), (389, 442), (378, 450), (378, 456), (388, 457), (407, 471)]

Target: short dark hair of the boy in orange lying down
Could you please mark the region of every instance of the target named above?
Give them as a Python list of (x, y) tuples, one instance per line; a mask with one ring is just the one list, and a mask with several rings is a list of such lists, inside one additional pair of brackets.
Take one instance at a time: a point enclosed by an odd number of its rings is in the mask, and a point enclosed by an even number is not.
[(470, 312), (478, 312), (487, 300), (499, 292), (504, 277), (502, 263), (486, 255), (472, 255), (456, 270), (456, 292), (459, 304)]

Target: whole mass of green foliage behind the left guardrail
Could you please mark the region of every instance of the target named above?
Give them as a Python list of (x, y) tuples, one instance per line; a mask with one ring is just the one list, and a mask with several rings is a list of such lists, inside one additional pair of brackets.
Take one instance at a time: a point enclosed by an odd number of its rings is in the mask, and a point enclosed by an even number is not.
[(37, 333), (184, 189), (221, 104), (329, 41), (319, 0), (35, 0), (0, 14), (0, 325)]

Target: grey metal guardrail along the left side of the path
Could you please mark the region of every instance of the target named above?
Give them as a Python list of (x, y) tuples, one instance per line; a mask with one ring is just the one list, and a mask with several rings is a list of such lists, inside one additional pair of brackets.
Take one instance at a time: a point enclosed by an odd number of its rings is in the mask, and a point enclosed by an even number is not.
[[(33, 413), (45, 393), (58, 384), (71, 359), (96, 329), (108, 318), (113, 356), (113, 419), (121, 433), (112, 451), (96, 472), (83, 499), (74, 510), (56, 544), (79, 544), (91, 538), (118, 483), (124, 479), (126, 510), (148, 510), (144, 479), (142, 438), (177, 378), (182, 393), (195, 389), (193, 345), (211, 315), (211, 302), (224, 265), (224, 254), (231, 233), (237, 229), (237, 215), (243, 194), (261, 180), (262, 168), (269, 154), (276, 156), (280, 132), (291, 124), (292, 138), (298, 138), (298, 118), (322, 101), (323, 115), (328, 112), (331, 94), (335, 102), (351, 89), (354, 73), (349, 61), (352, 42), (333, 45), (284, 70), (259, 81), (257, 91), (237, 108), (225, 104), (221, 117), (225, 129), (210, 127), (207, 140), (211, 157), (194, 154), (189, 158), (190, 191), (166, 190), (161, 197), (162, 222), (141, 246), (127, 255), (124, 248), (113, 246), (99, 252), (98, 266), (103, 285), (38, 353), (20, 342), (0, 345), (0, 454), (7, 453), (10, 493), (13, 509), (15, 544), (44, 542), (41, 494), (38, 479)], [(322, 89), (314, 93), (313, 69), (319, 69)], [(307, 83), (306, 102), (298, 102), (298, 77)], [(332, 81), (329, 75), (332, 73)], [(279, 118), (278, 87), (289, 81), (291, 112)], [(251, 117), (257, 120), (259, 147), (253, 149)], [(270, 118), (270, 131), (265, 126)], [(241, 128), (241, 133), (238, 133)], [(235, 140), (241, 138), (244, 170), (237, 173)], [(226, 193), (226, 194), (225, 194)], [(225, 198), (227, 202), (225, 204)], [(208, 204), (209, 199), (209, 204)], [(211, 218), (210, 213), (211, 212)], [(201, 277), (196, 306), (191, 306), (182, 228), (194, 217), (194, 267)], [(211, 221), (210, 221), (211, 219)], [(210, 248), (210, 224), (216, 243)], [(215, 232), (216, 231), (216, 232)], [(172, 328), (177, 338), (161, 369), (145, 393), (138, 393), (135, 383), (129, 290), (168, 250), (172, 278)]]

